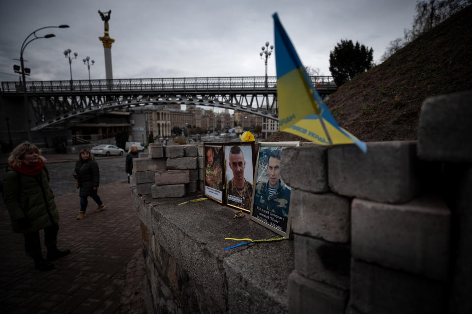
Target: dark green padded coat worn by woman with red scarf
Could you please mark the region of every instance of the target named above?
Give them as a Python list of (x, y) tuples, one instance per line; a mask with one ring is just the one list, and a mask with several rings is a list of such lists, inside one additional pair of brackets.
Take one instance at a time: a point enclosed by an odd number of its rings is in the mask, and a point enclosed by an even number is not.
[[(38, 231), (59, 222), (46, 167), (35, 176), (21, 174), (8, 167), (3, 178), (3, 201), (10, 215), (13, 232)], [(23, 221), (22, 224), (19, 224), (19, 219)]]

